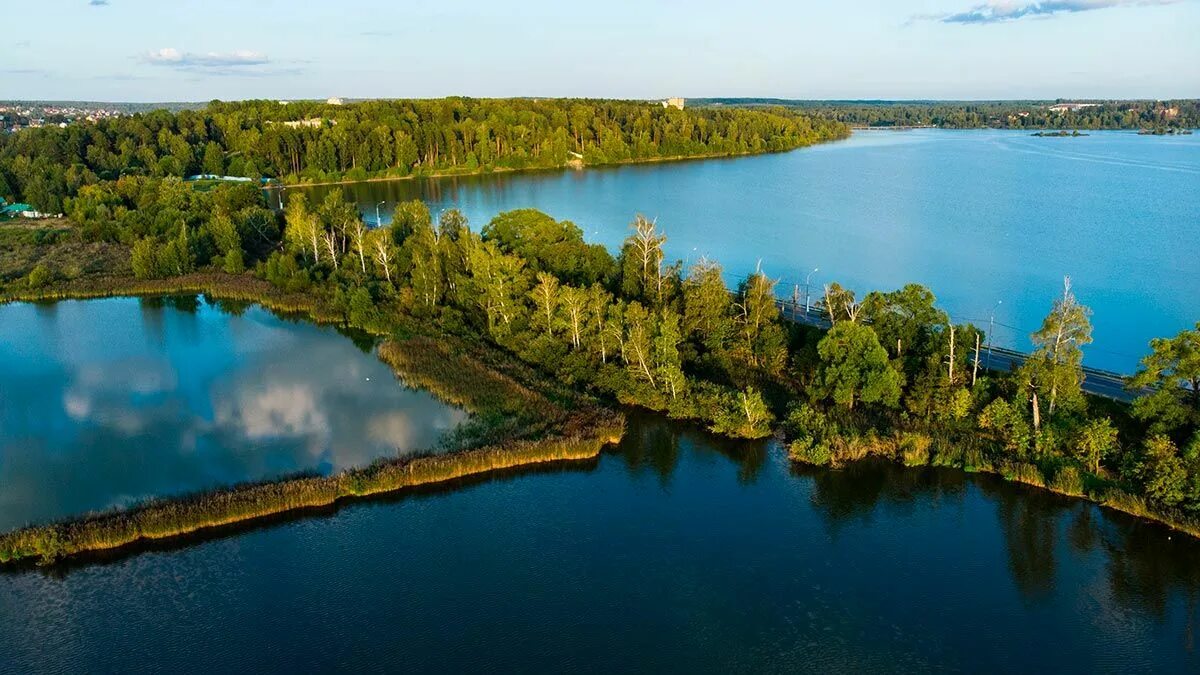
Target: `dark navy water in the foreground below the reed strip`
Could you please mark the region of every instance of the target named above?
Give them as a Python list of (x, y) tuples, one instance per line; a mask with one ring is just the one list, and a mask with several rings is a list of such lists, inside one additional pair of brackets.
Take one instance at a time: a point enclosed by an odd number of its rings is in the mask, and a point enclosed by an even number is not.
[(0, 671), (1195, 673), (1200, 544), (634, 419), (599, 461), (0, 574)]

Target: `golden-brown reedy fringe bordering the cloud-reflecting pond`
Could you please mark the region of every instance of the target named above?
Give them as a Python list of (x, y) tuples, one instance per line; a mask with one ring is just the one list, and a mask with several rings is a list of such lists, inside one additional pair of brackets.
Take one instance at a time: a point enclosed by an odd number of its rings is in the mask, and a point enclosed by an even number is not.
[[(280, 292), (246, 275), (197, 273), (138, 281), (91, 277), (0, 294), (0, 304), (130, 295), (205, 293), (246, 300), (266, 309), (307, 315), (317, 322), (341, 322), (307, 295)], [(583, 396), (539, 390), (510, 371), (485, 363), (479, 350), (457, 345), (452, 336), (415, 335), (386, 340), (378, 351), (397, 376), (473, 413), (508, 420), (485, 429), (475, 447), (445, 453), (379, 460), (332, 476), (294, 476), (247, 483), (203, 494), (166, 497), (127, 509), (68, 518), (0, 534), (0, 565), (50, 563), (90, 551), (109, 551), (139, 542), (163, 540), (199, 531), (330, 507), (341, 502), (396, 492), (419, 485), (541, 464), (594, 460), (620, 440), (624, 417)], [(502, 357), (494, 357), (503, 360)], [(479, 441), (478, 438), (475, 441)]]

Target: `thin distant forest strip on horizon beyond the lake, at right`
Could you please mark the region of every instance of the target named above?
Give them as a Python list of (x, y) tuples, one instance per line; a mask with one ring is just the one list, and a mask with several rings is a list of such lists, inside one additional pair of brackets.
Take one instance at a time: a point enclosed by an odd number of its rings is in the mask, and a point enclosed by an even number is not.
[(1195, 129), (1200, 100), (1088, 101), (1076, 110), (1054, 110), (1060, 101), (790, 101), (706, 98), (722, 106), (787, 107), (851, 126), (943, 129)]

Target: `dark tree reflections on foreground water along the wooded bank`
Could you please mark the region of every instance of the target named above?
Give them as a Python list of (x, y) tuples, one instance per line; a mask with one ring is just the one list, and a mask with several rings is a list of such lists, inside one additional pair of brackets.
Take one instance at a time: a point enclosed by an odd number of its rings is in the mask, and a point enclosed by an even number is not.
[(1181, 644), (1192, 649), (1200, 619), (1200, 542), (1163, 526), (995, 476), (871, 460), (838, 471), (793, 465), (778, 446), (713, 438), (637, 414), (619, 452), (631, 474), (652, 471), (664, 486), (682, 464), (714, 456), (736, 471), (739, 483), (754, 483), (773, 464), (786, 467), (788, 480), (810, 486), (811, 510), (835, 542), (935, 516), (952, 520), (955, 537), (967, 536), (960, 528), (984, 537), (997, 532), (1003, 556), (996, 562), (1004, 565), (1027, 608), (1061, 603), (1073, 584), (1081, 584), (1094, 621), (1108, 616), (1128, 623), (1130, 611), (1157, 621), (1177, 616), (1186, 626)]

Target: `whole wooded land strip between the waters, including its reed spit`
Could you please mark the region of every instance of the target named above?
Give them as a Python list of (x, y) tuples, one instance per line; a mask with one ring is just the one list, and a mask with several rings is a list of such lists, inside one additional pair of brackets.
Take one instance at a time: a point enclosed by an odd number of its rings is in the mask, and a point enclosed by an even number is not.
[(289, 191), (282, 213), (256, 185), (198, 189), (174, 175), (97, 177), (64, 198), (66, 219), (0, 223), (0, 301), (259, 301), (386, 336), (380, 356), (448, 399), (492, 393), (468, 406), (481, 418), (463, 446), (474, 450), (18, 530), (0, 536), (0, 561), (328, 504), (414, 474), (594, 456), (620, 430), (596, 401), (725, 436), (774, 435), (799, 462), (994, 472), (1200, 534), (1200, 325), (1151, 344), (1132, 406), (1091, 398), (1090, 311), (1069, 282), (1046, 299), (1032, 357), (990, 372), (977, 360), (986, 335), (922, 286), (859, 297), (830, 283), (816, 311), (832, 329), (786, 322), (764, 270), (728, 288), (715, 261), (670, 261), (660, 225), (632, 214), (608, 251), (532, 209), (472, 227), (458, 210), (434, 219), (407, 202), (370, 228), (338, 190), (319, 203)]

